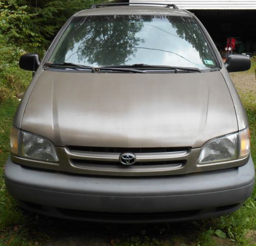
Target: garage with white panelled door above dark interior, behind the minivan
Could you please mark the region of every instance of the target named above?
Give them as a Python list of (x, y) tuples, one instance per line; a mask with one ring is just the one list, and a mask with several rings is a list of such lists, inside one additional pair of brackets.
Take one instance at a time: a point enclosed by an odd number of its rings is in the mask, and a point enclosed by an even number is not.
[(223, 57), (230, 53), (256, 55), (255, 0), (130, 2), (175, 4), (179, 9), (187, 9), (201, 20)]

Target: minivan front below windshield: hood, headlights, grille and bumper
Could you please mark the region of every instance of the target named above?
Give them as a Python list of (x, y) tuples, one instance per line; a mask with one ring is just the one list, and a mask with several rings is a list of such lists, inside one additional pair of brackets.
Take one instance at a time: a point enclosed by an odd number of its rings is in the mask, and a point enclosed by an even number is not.
[[(115, 74), (105, 82), (105, 74), (50, 79), (50, 72), (41, 73), (12, 131), (6, 187), (22, 207), (62, 218), (165, 222), (226, 214), (251, 194), (249, 130), (238, 131), (220, 71), (190, 74), (200, 90), (185, 86), (186, 73), (163, 74), (159, 87), (159, 75)], [(76, 79), (71, 85), (64, 77)]]

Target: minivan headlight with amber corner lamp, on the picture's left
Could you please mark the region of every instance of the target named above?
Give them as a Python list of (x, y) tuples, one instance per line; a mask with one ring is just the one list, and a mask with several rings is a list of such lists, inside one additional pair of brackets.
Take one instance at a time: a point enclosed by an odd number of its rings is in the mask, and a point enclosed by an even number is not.
[(49, 140), (23, 131), (18, 134), (15, 128), (11, 134), (11, 152), (20, 157), (58, 162), (55, 147)]

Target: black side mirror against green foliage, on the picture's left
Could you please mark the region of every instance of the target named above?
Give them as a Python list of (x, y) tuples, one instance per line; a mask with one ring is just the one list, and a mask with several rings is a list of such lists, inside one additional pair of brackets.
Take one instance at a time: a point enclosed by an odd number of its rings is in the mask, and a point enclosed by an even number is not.
[(18, 65), (24, 70), (36, 71), (40, 65), (40, 58), (35, 53), (25, 54), (19, 58)]

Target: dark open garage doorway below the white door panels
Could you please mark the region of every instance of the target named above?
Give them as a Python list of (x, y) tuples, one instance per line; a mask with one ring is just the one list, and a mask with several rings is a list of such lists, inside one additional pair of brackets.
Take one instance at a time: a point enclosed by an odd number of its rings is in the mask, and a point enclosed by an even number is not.
[(256, 55), (255, 10), (189, 10), (203, 23), (218, 50), (225, 55), (225, 47), (234, 41), (232, 52)]

